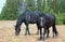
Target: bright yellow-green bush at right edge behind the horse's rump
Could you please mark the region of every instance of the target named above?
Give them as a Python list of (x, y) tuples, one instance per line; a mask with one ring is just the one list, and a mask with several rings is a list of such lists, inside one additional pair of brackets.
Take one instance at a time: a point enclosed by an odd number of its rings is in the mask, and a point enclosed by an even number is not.
[(65, 13), (55, 14), (55, 17), (57, 25), (65, 25)]

